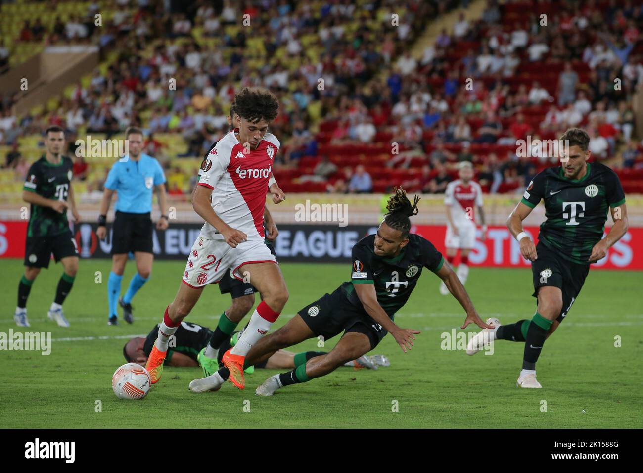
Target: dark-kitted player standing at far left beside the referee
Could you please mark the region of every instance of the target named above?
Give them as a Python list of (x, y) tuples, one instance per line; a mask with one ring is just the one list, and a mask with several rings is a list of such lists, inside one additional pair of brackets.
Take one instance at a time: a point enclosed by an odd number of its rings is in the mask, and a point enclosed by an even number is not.
[(18, 306), (14, 320), (18, 326), (30, 326), (27, 299), (41, 269), (49, 268), (53, 253), (56, 263), (62, 263), (63, 273), (47, 316), (60, 327), (69, 327), (62, 312), (62, 303), (76, 278), (78, 248), (69, 230), (67, 209), (71, 209), (74, 222), (80, 222), (71, 185), (73, 162), (62, 155), (66, 142), (61, 127), (49, 127), (45, 131), (44, 144), (47, 152), (29, 168), (23, 187), (23, 200), (31, 204), (31, 210), (24, 248), (26, 269), (18, 284)]

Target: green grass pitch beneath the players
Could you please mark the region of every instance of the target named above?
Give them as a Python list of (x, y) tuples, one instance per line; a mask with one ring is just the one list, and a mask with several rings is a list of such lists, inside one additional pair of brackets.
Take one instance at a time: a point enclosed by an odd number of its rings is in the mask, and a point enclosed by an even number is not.
[[(523, 344), (496, 342), (493, 356), (481, 352), (475, 357), (440, 348), (440, 334), (459, 327), (464, 312), (453, 297), (439, 294), (439, 279), (425, 270), (395, 318), (402, 327), (422, 330), (415, 348), (404, 354), (389, 335), (375, 351), (390, 357), (390, 367), (338, 369), (324, 378), (286, 387), (271, 398), (255, 396), (254, 389), (276, 371), (256, 370), (246, 377), (244, 391), (226, 384), (218, 393), (194, 394), (188, 383), (201, 377), (200, 368), (166, 367), (147, 398), (123, 401), (112, 392), (111, 375), (125, 362), (124, 337), (147, 334), (161, 320), (177, 291), (184, 263), (154, 263), (152, 279), (132, 301), (134, 324), (121, 320), (116, 327), (107, 326), (110, 266), (107, 260), (81, 261), (64, 306), (71, 323), (68, 329), (46, 320), (62, 267), (52, 263), (41, 272), (28, 302), (32, 327), (22, 331), (51, 331), (51, 355), (0, 351), (3, 427), (643, 427), (643, 309), (637, 272), (590, 272), (568, 320), (545, 344), (538, 363), (543, 389), (516, 387)], [(17, 329), (12, 315), (23, 265), (3, 260), (2, 268), (0, 332), (7, 333)], [(291, 263), (282, 264), (282, 270), (290, 299), (276, 326), (332, 292), (349, 276), (350, 267)], [(102, 283), (95, 282), (98, 271)], [(123, 292), (133, 273), (130, 261)], [(495, 315), (503, 323), (514, 322), (535, 311), (529, 268), (472, 268), (466, 288), (483, 319)], [(229, 295), (207, 288), (188, 320), (214, 328), (229, 304)], [(617, 335), (620, 348), (615, 348)], [(327, 342), (326, 348), (336, 341)], [(318, 349), (316, 340), (293, 351), (309, 349)]]

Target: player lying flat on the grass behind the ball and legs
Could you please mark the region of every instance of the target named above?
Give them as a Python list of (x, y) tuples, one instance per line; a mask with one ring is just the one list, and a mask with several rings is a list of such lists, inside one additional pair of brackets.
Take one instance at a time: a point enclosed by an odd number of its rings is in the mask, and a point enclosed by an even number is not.
[[(147, 357), (152, 351), (152, 346), (156, 341), (158, 334), (158, 324), (152, 328), (147, 339), (143, 337), (134, 337), (128, 340), (123, 347), (123, 356), (127, 362), (138, 363), (145, 366)], [(203, 351), (208, 345), (208, 340), (212, 338), (213, 331), (193, 322), (181, 322), (181, 325), (174, 333), (174, 343), (170, 344), (165, 357), (165, 366), (201, 366), (200, 360), (203, 359)], [(239, 332), (234, 332), (231, 337), (227, 337), (221, 344), (219, 351), (219, 362), (223, 357), (223, 353), (228, 351), (237, 344), (239, 340)], [(325, 355), (325, 351), (302, 351), (301, 353), (294, 353), (293, 351), (279, 350), (276, 351), (270, 358), (257, 364), (256, 368), (266, 369), (293, 369), (307, 362), (312, 357)], [(357, 368), (377, 369), (379, 366), (389, 366), (390, 362), (384, 355), (364, 355), (357, 360), (350, 360), (345, 366), (352, 366)], [(251, 372), (246, 370), (247, 373)]]

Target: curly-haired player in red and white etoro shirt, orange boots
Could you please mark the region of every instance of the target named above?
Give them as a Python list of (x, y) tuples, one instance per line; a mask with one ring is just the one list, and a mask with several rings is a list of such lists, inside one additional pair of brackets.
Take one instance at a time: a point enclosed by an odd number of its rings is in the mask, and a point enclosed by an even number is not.
[(279, 149), (275, 135), (267, 133), (278, 113), (278, 101), (265, 89), (242, 89), (233, 102), (239, 129), (226, 134), (210, 151), (192, 207), (204, 219), (201, 234), (192, 246), (174, 301), (165, 309), (158, 339), (147, 360), (152, 384), (163, 371), (168, 340), (199, 300), (203, 288), (218, 283), (228, 270), (243, 279), (243, 267), (264, 300), (250, 318), (239, 343), (222, 357), (230, 380), (243, 389), (246, 355), (266, 334), (288, 300), (284, 277), (264, 241), (266, 191), (273, 201), (284, 199), (274, 178), (273, 158)]

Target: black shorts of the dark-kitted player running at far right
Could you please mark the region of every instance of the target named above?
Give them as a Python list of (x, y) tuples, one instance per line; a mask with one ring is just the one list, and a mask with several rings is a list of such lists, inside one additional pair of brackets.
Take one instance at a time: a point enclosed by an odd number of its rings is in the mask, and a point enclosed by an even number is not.
[(562, 322), (572, 304), (578, 297), (583, 283), (590, 271), (590, 264), (578, 264), (561, 257), (556, 251), (538, 242), (536, 246), (538, 259), (531, 263), (534, 276), (534, 297), (538, 297), (538, 288), (554, 286), (563, 292), (563, 308), (556, 320)]

